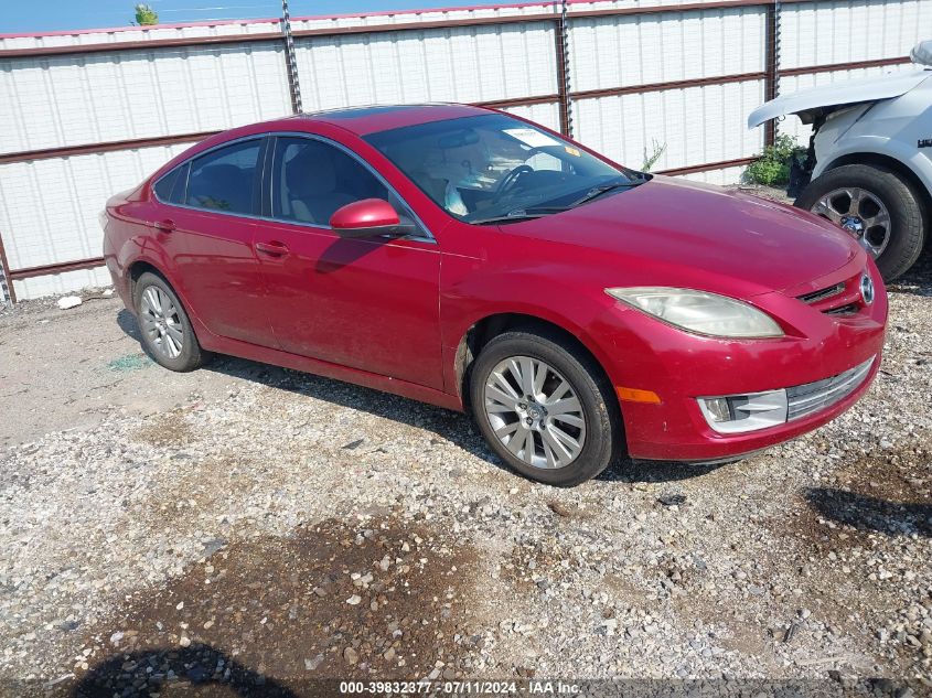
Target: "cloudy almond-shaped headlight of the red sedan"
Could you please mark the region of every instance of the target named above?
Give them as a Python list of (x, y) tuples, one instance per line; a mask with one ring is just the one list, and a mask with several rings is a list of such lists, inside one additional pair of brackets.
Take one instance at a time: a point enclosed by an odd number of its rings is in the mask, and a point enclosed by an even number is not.
[(688, 332), (719, 337), (783, 336), (770, 315), (717, 293), (654, 286), (606, 289), (606, 293)]

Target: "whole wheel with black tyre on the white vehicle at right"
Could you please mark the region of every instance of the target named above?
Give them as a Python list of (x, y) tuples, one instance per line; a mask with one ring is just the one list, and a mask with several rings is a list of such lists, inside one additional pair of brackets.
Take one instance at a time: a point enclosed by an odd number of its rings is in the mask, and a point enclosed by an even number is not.
[(903, 275), (919, 258), (926, 221), (922, 202), (898, 173), (847, 164), (829, 170), (803, 190), (795, 206), (839, 225), (870, 254), (885, 281)]

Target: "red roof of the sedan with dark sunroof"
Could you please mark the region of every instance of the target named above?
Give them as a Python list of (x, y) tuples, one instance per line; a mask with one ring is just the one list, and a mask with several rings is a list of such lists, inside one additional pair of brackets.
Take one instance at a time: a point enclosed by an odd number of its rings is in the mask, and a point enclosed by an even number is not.
[(369, 105), (301, 114), (286, 121), (293, 124), (294, 120), (306, 120), (331, 124), (352, 131), (356, 136), (366, 136), (417, 124), (483, 114), (489, 114), (489, 109), (458, 104)]

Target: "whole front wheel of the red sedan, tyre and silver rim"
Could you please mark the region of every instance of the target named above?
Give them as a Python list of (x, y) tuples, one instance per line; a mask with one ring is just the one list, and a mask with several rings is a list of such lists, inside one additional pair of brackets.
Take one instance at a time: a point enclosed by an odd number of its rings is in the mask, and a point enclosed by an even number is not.
[[(539, 388), (531, 385), (529, 390), (518, 391), (528, 384), (515, 372), (537, 376)], [(490, 382), (494, 389), (488, 388)], [(560, 382), (570, 393), (563, 391)], [(482, 436), (525, 477), (571, 487), (597, 476), (620, 454), (623, 431), (611, 385), (588, 354), (556, 332), (514, 330), (494, 337), (473, 363), (469, 388)], [(579, 410), (571, 408), (574, 397)], [(527, 445), (528, 434), (533, 448)], [(578, 448), (569, 445), (574, 442)]]

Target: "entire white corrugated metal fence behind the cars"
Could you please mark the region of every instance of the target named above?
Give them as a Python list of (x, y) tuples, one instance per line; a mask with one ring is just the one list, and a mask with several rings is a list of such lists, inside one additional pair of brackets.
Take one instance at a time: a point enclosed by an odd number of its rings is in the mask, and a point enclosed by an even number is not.
[[(641, 167), (657, 144), (664, 152), (655, 171), (736, 182), (763, 144), (763, 131), (744, 122), (772, 82), (773, 2), (679, 4), (572, 2), (568, 95), (559, 80), (557, 3), (296, 19), (303, 107), (494, 103), (560, 129), (569, 100), (576, 138), (621, 162)], [(781, 93), (898, 69), (815, 66), (899, 58), (923, 28), (932, 31), (932, 0), (781, 7), (776, 68), (790, 72), (779, 79)], [(278, 32), (268, 20), (0, 36), (0, 236), (13, 277), (76, 260), (93, 266), (107, 197), (189, 144), (159, 139), (195, 140), (290, 114)], [(55, 53), (88, 46), (103, 51)], [(780, 130), (805, 137), (795, 118)], [(122, 143), (138, 139), (154, 140)], [(108, 282), (103, 268), (75, 266), (18, 278), (17, 294)]]

